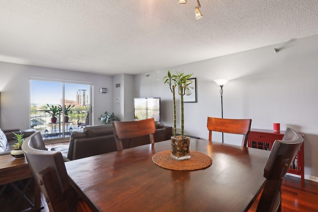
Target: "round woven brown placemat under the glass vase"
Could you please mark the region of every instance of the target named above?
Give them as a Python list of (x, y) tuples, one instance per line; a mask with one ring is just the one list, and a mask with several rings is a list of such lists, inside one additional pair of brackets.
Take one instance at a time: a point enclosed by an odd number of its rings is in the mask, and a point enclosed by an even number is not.
[(204, 169), (212, 164), (212, 158), (202, 152), (190, 151), (190, 155), (190, 159), (178, 161), (171, 158), (170, 150), (165, 150), (154, 154), (153, 161), (162, 168), (177, 171)]

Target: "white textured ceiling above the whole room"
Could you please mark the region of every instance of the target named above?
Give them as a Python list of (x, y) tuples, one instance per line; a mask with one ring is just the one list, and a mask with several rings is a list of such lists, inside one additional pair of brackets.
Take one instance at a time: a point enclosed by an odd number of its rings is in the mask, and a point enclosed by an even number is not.
[(0, 61), (138, 74), (318, 34), (318, 0), (0, 0)]

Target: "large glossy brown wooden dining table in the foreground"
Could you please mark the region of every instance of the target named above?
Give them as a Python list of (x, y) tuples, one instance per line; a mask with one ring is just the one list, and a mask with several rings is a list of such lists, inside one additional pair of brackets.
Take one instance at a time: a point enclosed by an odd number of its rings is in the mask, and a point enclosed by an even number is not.
[[(191, 138), (191, 151), (212, 158), (195, 171), (152, 160), (170, 140), (66, 162), (72, 186), (92, 211), (245, 212), (264, 186), (269, 151)], [(191, 160), (191, 158), (190, 158)]]

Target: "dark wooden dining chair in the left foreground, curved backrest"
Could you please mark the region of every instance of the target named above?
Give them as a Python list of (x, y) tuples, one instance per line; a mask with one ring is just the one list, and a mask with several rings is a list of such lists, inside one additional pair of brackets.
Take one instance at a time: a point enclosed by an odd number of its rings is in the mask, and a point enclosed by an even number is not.
[(50, 212), (90, 211), (70, 184), (61, 152), (37, 149), (41, 139), (40, 132), (32, 134), (23, 142), (22, 150)]

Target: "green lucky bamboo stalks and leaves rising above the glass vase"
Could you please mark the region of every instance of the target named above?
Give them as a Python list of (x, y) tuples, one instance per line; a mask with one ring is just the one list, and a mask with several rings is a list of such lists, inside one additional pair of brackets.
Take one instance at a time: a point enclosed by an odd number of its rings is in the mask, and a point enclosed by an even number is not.
[(170, 70), (167, 76), (163, 77), (164, 83), (169, 85), (170, 91), (173, 95), (173, 137), (176, 137), (176, 109), (175, 109), (175, 87), (178, 88), (178, 94), (180, 95), (181, 101), (181, 136), (184, 136), (184, 107), (183, 107), (183, 96), (189, 86), (192, 83), (189, 78), (191, 74), (184, 74), (183, 71), (175, 71), (175, 74), (171, 75)]

